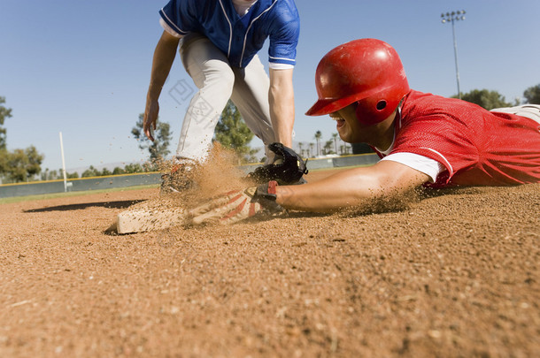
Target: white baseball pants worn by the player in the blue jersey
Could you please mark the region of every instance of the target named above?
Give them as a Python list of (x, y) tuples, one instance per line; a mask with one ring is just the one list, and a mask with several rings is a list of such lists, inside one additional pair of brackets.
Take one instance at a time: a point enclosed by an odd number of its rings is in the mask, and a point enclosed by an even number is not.
[(203, 162), (229, 98), (246, 125), (265, 145), (274, 142), (268, 90), (270, 80), (258, 56), (245, 68), (231, 67), (227, 57), (201, 34), (181, 39), (180, 57), (199, 91), (193, 96), (181, 127), (176, 157)]

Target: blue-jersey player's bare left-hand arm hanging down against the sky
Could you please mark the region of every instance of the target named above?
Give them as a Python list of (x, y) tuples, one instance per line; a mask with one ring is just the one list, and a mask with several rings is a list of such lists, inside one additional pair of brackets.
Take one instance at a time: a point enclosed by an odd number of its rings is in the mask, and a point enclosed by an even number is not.
[(150, 73), (150, 86), (146, 95), (146, 107), (144, 109), (143, 131), (150, 141), (154, 141), (151, 129), (156, 129), (156, 121), (159, 113), (159, 95), (165, 84), (165, 80), (171, 71), (171, 67), (176, 56), (179, 38), (172, 34), (163, 32), (159, 39), (154, 57), (152, 60), (152, 70)]

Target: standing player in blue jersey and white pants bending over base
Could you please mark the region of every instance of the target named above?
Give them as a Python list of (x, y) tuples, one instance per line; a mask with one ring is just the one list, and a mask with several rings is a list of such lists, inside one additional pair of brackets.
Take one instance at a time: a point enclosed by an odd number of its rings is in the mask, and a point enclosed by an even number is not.
[[(292, 144), (294, 92), (300, 30), (294, 0), (171, 0), (159, 11), (164, 32), (154, 52), (144, 110), (144, 133), (158, 118), (158, 98), (176, 55), (199, 89), (189, 103), (176, 151), (175, 176), (202, 163), (228, 100), (265, 145)], [(269, 39), (269, 76), (258, 51)], [(272, 161), (272, 153), (267, 151)], [(182, 183), (178, 185), (178, 183)], [(180, 191), (181, 180), (166, 184)]]

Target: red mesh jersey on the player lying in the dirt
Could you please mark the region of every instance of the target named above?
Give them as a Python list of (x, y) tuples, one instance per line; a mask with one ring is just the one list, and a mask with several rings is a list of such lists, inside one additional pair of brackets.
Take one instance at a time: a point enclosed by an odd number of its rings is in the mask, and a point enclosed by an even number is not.
[(429, 186), (540, 182), (540, 124), (533, 119), (413, 90), (395, 126), (390, 154), (427, 156), (446, 168)]

